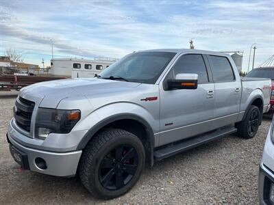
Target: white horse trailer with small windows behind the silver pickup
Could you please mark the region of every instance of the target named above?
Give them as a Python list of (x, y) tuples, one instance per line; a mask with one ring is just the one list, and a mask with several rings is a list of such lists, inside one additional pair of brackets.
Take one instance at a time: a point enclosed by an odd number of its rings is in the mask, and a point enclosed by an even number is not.
[(51, 74), (64, 77), (94, 77), (103, 69), (108, 68), (115, 59), (77, 59), (53, 58), (51, 59)]

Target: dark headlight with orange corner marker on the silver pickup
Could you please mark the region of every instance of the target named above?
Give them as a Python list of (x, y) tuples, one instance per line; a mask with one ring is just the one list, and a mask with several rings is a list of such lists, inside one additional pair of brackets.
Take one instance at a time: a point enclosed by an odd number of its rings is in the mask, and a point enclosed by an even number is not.
[(69, 133), (80, 117), (79, 110), (39, 108), (35, 124), (36, 136), (45, 139), (49, 133)]

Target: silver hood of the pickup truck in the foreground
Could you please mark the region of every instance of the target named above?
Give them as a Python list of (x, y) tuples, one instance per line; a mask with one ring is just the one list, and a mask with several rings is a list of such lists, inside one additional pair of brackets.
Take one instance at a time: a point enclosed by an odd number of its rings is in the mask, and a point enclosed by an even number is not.
[(101, 94), (132, 92), (138, 85), (140, 83), (95, 78), (62, 79), (29, 85), (21, 91), (20, 95), (29, 100), (36, 98), (36, 102), (40, 101), (40, 107), (56, 108), (64, 98), (86, 98), (87, 96), (90, 98), (90, 96), (96, 97)]

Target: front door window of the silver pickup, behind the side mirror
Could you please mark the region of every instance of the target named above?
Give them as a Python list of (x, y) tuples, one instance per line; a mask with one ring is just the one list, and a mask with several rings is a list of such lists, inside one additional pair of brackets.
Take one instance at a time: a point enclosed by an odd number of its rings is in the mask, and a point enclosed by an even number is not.
[(173, 67), (174, 75), (179, 73), (198, 74), (198, 83), (208, 83), (208, 72), (200, 54), (188, 54), (180, 57)]

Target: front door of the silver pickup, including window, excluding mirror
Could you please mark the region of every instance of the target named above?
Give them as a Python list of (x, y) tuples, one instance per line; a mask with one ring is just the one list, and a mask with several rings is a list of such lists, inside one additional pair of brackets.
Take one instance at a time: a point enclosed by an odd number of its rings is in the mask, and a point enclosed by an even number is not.
[[(214, 117), (214, 83), (205, 56), (179, 57), (160, 86), (160, 146), (210, 131)], [(166, 90), (164, 83), (179, 73), (198, 74), (197, 90)]]

